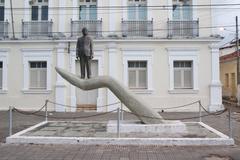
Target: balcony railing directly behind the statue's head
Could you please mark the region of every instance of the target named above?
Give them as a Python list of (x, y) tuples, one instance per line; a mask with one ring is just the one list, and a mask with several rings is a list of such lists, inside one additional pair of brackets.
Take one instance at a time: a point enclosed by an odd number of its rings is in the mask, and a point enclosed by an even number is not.
[(102, 37), (102, 20), (71, 21), (71, 36), (81, 36), (84, 27), (88, 29), (90, 36)]

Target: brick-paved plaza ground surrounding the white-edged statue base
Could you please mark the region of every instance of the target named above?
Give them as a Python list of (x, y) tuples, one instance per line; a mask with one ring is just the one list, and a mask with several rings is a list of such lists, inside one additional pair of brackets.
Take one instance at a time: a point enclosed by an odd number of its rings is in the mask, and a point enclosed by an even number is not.
[[(42, 113), (44, 114), (44, 113)], [(80, 113), (53, 113), (58, 117), (80, 117), (93, 115), (91, 112)], [(195, 117), (196, 113), (162, 113), (166, 119)], [(0, 160), (240, 160), (240, 114), (233, 113), (234, 146), (199, 146), (199, 147), (163, 147), (163, 146), (111, 146), (111, 145), (9, 145), (5, 144), (8, 135), (8, 113), (0, 112)], [(106, 121), (115, 120), (116, 113), (74, 120)], [(136, 119), (136, 117), (124, 114), (124, 119)], [(29, 126), (42, 122), (44, 117), (33, 115), (21, 115), (13, 113), (13, 132), (16, 133)], [(50, 119), (56, 120), (56, 119)], [(71, 120), (71, 119), (70, 119)], [(193, 119), (191, 121), (197, 121)], [(185, 120), (190, 121), (190, 120)], [(228, 114), (208, 116), (203, 122), (228, 135)]]

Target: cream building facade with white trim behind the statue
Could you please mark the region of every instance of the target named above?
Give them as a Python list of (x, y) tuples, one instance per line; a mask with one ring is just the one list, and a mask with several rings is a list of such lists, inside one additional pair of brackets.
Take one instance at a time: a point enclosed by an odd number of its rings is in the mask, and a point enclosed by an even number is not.
[[(94, 38), (93, 75), (109, 75), (162, 110), (201, 100), (222, 109), (219, 39), (211, 37), (210, 0), (1, 0), (0, 109), (55, 111), (120, 104), (106, 88), (82, 91), (55, 72), (80, 74), (76, 40), (82, 27)], [(14, 26), (14, 35), (13, 29)], [(76, 108), (75, 108), (76, 107)], [(198, 105), (171, 111), (198, 111)]]

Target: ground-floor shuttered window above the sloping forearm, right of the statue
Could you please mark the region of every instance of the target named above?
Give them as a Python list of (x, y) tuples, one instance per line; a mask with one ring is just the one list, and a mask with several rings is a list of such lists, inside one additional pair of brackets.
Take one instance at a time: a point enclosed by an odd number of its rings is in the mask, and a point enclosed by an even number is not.
[(132, 89), (147, 89), (146, 61), (128, 61), (128, 86)]

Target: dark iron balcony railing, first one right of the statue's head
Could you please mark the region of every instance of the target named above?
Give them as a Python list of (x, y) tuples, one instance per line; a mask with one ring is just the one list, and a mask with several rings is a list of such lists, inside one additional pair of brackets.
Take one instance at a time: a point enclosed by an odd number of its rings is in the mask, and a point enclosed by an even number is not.
[(122, 20), (123, 37), (152, 37), (153, 20), (151, 21), (124, 21)]

